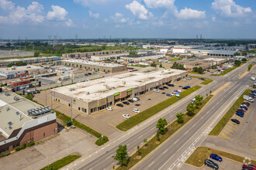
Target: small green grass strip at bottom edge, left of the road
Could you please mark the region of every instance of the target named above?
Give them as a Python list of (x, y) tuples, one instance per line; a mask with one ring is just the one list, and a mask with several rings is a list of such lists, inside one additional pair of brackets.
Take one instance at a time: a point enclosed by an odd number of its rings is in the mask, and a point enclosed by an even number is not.
[(71, 162), (74, 162), (74, 160), (80, 158), (80, 155), (68, 155), (60, 160), (58, 160), (57, 162), (54, 162), (52, 164), (44, 168), (41, 168), (41, 170), (48, 170), (48, 169), (59, 169), (64, 167), (65, 165), (68, 165)]

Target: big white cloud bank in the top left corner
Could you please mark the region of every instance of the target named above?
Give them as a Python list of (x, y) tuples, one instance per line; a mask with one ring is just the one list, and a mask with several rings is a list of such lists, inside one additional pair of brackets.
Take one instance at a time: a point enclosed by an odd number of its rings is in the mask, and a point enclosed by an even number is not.
[(0, 16), (1, 23), (19, 24), (25, 21), (43, 22), (43, 5), (38, 2), (32, 2), (27, 8), (16, 6), (7, 0), (0, 0), (0, 8), (9, 12), (6, 16)]

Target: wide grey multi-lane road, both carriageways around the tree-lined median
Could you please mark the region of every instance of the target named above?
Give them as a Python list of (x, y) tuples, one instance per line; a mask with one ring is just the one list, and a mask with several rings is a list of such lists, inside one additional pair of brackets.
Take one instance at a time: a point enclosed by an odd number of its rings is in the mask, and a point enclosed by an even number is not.
[(213, 83), (195, 91), (195, 93), (171, 105), (171, 107), (161, 111), (154, 117), (150, 117), (150, 119), (130, 129), (130, 131), (126, 131), (119, 138), (109, 141), (106, 145), (97, 148), (88, 153), (88, 155), (82, 156), (65, 168), (88, 170), (112, 169), (113, 165), (116, 165), (113, 157), (116, 155), (116, 148), (119, 145), (127, 145), (128, 154), (131, 155), (133, 151), (136, 151), (138, 145), (143, 144), (144, 138), (150, 138), (156, 133), (157, 128), (155, 127), (159, 117), (166, 118), (168, 122), (174, 121), (175, 115), (179, 112), (185, 112), (187, 104), (195, 95), (199, 93), (201, 95), (205, 94), (209, 90), (214, 91), (230, 80), (230, 86), (214, 96), (198, 116), (133, 167), (134, 169), (179, 168), (186, 158), (192, 154), (195, 147), (206, 138), (209, 131), (222, 115), (226, 113), (237, 97), (240, 96), (240, 93), (246, 89), (251, 75), (247, 74), (243, 79), (237, 79), (238, 74), (246, 69), (247, 64), (244, 64), (244, 66), (227, 74), (227, 77), (216, 77)]

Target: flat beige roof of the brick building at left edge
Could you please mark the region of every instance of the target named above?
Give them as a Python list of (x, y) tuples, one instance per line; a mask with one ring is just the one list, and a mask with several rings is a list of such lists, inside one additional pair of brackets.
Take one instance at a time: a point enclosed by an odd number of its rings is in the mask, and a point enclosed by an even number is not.
[[(14, 100), (14, 97), (19, 100)], [(0, 141), (9, 138), (12, 131), (22, 128), (26, 121), (33, 120), (28, 110), (37, 107), (41, 106), (16, 93), (9, 92), (9, 96), (0, 93)]]

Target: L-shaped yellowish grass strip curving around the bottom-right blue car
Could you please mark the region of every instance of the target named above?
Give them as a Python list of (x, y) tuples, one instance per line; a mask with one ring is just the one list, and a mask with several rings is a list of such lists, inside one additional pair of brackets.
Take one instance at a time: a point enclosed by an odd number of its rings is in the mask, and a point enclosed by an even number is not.
[[(244, 163), (244, 157), (207, 147), (196, 148), (185, 163), (196, 167), (202, 167), (206, 158), (209, 158), (209, 155), (211, 155), (212, 153), (225, 158), (230, 158), (236, 162)], [(251, 164), (256, 165), (256, 162), (254, 160), (251, 160)]]

